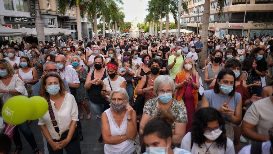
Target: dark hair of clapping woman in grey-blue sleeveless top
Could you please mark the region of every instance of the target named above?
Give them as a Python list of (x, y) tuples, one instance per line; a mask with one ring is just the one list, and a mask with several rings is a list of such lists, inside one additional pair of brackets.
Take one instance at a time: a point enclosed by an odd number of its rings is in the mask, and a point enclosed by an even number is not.
[[(233, 90), (228, 94), (229, 96), (234, 96), (234, 94), (235, 94), (235, 79), (236, 79), (234, 72), (233, 72), (231, 69), (229, 69), (229, 68), (224, 68), (224, 69), (222, 69), (222, 70), (218, 73), (217, 79), (218, 79), (219, 82), (220, 82), (221, 79), (222, 79), (222, 78), (224, 77), (224, 75), (226, 75), (226, 74), (232, 75), (232, 76), (234, 77)], [(217, 94), (220, 92), (220, 86), (219, 86), (219, 84), (218, 84), (217, 82), (215, 82), (215, 85), (214, 85), (214, 89), (213, 89), (213, 90), (214, 90), (214, 92), (217, 93)]]

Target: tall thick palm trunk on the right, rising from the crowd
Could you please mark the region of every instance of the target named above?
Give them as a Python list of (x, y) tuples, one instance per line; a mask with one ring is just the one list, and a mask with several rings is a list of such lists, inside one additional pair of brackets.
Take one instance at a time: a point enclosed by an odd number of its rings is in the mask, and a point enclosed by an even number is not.
[(201, 65), (204, 67), (204, 61), (207, 59), (207, 36), (208, 36), (208, 24), (209, 24), (209, 14), (210, 14), (210, 0), (205, 0), (204, 13), (202, 21), (202, 35), (201, 42), (203, 43), (203, 49), (201, 52)]

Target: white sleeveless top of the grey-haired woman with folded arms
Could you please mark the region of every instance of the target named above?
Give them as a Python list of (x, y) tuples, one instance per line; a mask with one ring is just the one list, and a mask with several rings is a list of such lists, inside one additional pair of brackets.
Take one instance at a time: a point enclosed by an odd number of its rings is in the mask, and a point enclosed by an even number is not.
[[(120, 125), (120, 127), (115, 122), (115, 119), (113, 117), (113, 114), (110, 111), (111, 108), (105, 110), (104, 112), (107, 115), (109, 126), (110, 126), (110, 132), (112, 136), (119, 136), (119, 135), (125, 135), (126, 129), (127, 129), (127, 111), (124, 114), (123, 121)], [(135, 147), (133, 145), (133, 142), (131, 139), (127, 139), (119, 144), (105, 144), (104, 145), (104, 152), (105, 154), (129, 154), (135, 151)]]

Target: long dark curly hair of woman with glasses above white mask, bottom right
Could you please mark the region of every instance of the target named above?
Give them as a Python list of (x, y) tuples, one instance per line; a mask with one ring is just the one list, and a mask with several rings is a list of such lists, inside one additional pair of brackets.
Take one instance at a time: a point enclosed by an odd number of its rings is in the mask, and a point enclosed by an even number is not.
[(201, 145), (205, 143), (206, 137), (204, 131), (208, 126), (208, 122), (217, 120), (219, 126), (222, 127), (222, 134), (214, 140), (218, 147), (223, 147), (226, 142), (226, 128), (225, 121), (219, 111), (212, 107), (201, 108), (193, 115), (193, 121), (191, 125), (191, 137), (193, 142), (198, 144), (198, 147), (202, 148)]

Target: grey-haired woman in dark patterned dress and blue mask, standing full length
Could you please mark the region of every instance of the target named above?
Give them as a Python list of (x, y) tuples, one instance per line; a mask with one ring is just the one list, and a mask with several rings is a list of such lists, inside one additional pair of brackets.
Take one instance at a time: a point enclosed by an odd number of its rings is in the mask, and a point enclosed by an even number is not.
[[(73, 68), (76, 70), (78, 74), (78, 78), (80, 80), (79, 87), (76, 89), (76, 102), (78, 104), (78, 108), (80, 110), (80, 119), (83, 119), (83, 107), (87, 112), (86, 119), (89, 120), (91, 118), (91, 113), (89, 109), (89, 105), (87, 104), (87, 100), (89, 98), (87, 90), (84, 88), (85, 80), (87, 77), (88, 70), (87, 68), (79, 65), (81, 59), (78, 56), (72, 56), (70, 59), (70, 63), (72, 63)], [(83, 105), (83, 106), (82, 106)]]

